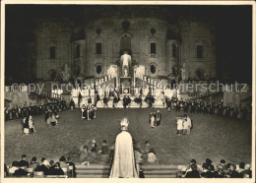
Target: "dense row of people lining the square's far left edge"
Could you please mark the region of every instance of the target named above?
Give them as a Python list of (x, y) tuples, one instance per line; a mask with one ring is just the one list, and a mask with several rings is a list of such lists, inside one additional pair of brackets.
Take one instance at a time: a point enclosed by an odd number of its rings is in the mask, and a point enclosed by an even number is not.
[(61, 111), (67, 108), (66, 100), (61, 99), (46, 99), (44, 104), (20, 104), (12, 107), (5, 108), (5, 121), (25, 118), (29, 115), (41, 115), (44, 114), (45, 111), (51, 108), (56, 111)]

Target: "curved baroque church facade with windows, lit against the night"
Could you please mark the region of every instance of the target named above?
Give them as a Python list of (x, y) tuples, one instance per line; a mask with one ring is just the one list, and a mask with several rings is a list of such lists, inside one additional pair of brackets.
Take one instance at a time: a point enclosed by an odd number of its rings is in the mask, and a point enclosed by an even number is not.
[[(76, 36), (79, 30), (84, 37)], [(102, 78), (114, 73), (128, 50), (137, 74), (186, 80), (216, 78), (214, 28), (191, 19), (171, 20), (155, 6), (85, 8), (84, 25), (46, 20), (36, 29), (36, 79)]]

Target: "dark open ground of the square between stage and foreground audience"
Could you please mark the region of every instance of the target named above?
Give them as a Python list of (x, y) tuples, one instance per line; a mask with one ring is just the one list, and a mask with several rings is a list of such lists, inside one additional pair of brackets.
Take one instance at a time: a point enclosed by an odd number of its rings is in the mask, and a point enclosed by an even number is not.
[[(203, 163), (211, 158), (214, 164), (224, 158), (227, 162), (251, 163), (251, 122), (228, 119), (218, 115), (190, 114), (194, 128), (190, 135), (176, 135), (175, 117), (183, 112), (167, 113), (161, 109), (161, 125), (150, 128), (149, 113), (152, 109), (98, 109), (96, 119), (81, 119), (80, 110), (60, 113), (60, 124), (47, 127), (43, 116), (34, 116), (37, 133), (26, 136), (22, 120), (5, 122), (5, 162), (10, 165), (26, 153), (28, 160), (36, 156), (57, 160), (61, 155), (71, 155), (79, 162), (79, 147), (87, 140), (96, 139), (100, 146), (106, 140), (113, 145), (119, 130), (119, 119), (128, 117), (129, 132), (142, 147), (149, 141), (156, 150), (160, 164), (187, 164), (191, 158)], [(109, 163), (98, 155), (94, 163)]]

